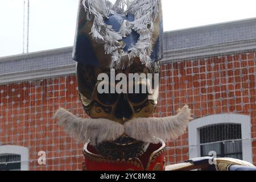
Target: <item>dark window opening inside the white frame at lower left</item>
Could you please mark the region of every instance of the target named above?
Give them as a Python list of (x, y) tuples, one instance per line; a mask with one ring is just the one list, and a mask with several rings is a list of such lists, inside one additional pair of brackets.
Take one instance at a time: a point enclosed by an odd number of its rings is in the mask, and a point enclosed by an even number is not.
[(20, 155), (0, 154), (0, 171), (20, 171)]

